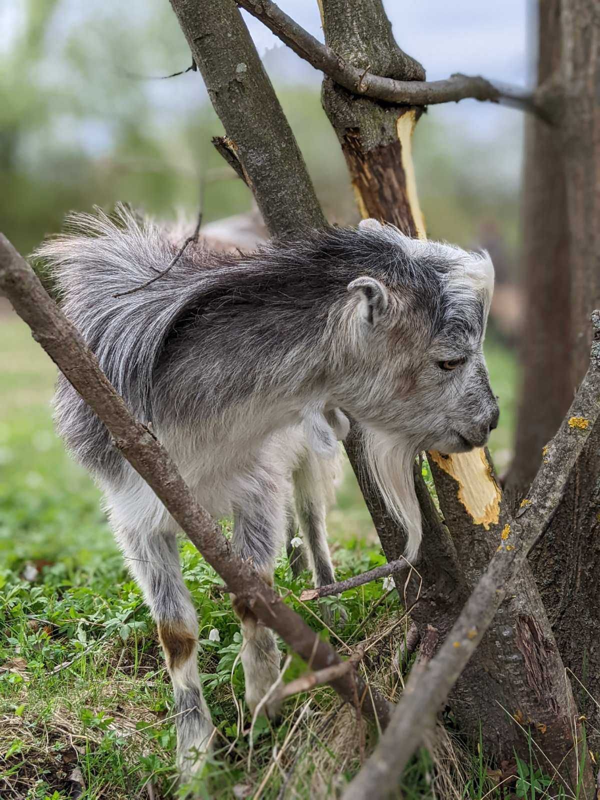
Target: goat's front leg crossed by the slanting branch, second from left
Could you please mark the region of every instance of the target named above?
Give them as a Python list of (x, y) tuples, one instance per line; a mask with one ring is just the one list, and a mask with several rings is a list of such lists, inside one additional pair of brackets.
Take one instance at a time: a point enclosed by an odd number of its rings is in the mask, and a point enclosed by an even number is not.
[[(234, 509), (234, 551), (254, 567), (269, 584), (273, 583), (275, 554), (282, 542), (285, 515), (276, 491), (253, 494), (244, 508)], [(259, 622), (252, 610), (233, 594), (234, 611), (242, 623), (242, 666), (246, 680), (246, 703), (254, 714), (258, 703), (278, 678), (281, 656), (270, 628)], [(268, 701), (262, 713), (273, 720), (278, 702)]]

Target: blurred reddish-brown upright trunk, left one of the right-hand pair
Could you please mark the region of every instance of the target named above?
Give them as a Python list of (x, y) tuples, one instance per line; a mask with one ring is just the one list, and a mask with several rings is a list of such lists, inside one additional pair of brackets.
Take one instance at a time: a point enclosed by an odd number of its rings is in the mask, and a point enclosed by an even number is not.
[[(552, 81), (560, 68), (560, 8), (561, 0), (538, 0), (538, 86)], [(520, 342), (514, 459), (505, 482), (506, 493), (518, 499), (533, 481), (542, 463), (542, 447), (554, 436), (573, 398), (564, 162), (558, 128), (528, 116), (521, 256), (526, 321)], [(537, 398), (544, 402), (536, 402)]]

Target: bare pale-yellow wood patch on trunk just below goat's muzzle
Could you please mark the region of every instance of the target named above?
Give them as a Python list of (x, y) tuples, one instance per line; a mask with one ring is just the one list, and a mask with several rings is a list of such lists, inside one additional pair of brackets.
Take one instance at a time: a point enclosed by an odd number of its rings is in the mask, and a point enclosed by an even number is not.
[(475, 525), (489, 530), (498, 523), (502, 493), (490, 474), (485, 450), (478, 448), (452, 456), (431, 451), (430, 458), (457, 482), (458, 499)]

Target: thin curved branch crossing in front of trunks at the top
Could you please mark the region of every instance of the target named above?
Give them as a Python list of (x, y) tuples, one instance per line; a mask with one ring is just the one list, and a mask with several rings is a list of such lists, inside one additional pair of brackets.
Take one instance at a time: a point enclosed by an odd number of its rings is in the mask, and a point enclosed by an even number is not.
[[(314, 38), (271, 0), (236, 0), (238, 6), (263, 22), (294, 53), (354, 94), (409, 106), (431, 106), (466, 98), (498, 102), (544, 116), (535, 95), (520, 86), (490, 81), (479, 75), (451, 75), (446, 81), (396, 81), (346, 63)], [(367, 68), (368, 69), (368, 68)]]

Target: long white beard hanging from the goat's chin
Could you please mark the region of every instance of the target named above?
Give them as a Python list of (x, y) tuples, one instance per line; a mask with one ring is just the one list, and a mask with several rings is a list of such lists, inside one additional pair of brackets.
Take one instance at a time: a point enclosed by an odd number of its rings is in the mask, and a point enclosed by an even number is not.
[(413, 465), (419, 442), (393, 438), (378, 430), (364, 430), (363, 446), (371, 474), (388, 514), (406, 532), (404, 558), (413, 563), (422, 539), (421, 507), (414, 491)]

